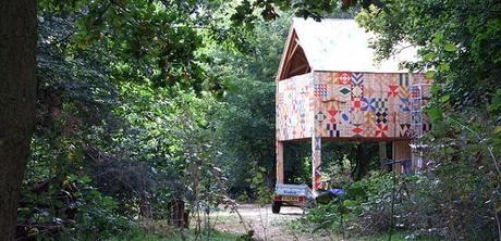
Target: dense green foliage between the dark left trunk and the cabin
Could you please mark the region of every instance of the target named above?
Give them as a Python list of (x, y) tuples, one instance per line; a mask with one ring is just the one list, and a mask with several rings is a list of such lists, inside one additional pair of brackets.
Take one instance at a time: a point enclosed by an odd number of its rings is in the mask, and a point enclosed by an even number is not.
[(205, 21), (182, 17), (203, 3), (40, 4), (37, 127), (19, 237), (102, 239), (272, 186), (273, 76), (290, 18), (260, 22), (242, 41), (236, 27), (213, 22), (224, 15), (209, 14), (222, 3), (207, 5)]

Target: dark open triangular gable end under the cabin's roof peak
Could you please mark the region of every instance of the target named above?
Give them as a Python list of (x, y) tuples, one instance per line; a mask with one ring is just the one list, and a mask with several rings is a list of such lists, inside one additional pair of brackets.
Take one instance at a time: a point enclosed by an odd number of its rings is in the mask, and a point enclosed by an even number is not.
[(311, 72), (308, 59), (300, 45), (294, 25), (289, 31), (288, 41), (280, 61), (277, 80), (286, 79), (296, 75)]

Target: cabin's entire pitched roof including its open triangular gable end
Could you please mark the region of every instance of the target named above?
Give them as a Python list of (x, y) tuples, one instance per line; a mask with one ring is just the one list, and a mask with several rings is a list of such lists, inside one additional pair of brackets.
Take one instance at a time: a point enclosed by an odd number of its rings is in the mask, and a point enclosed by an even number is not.
[(277, 80), (315, 72), (408, 73), (402, 62), (414, 62), (417, 49), (402, 42), (395, 54), (376, 62), (370, 41), (376, 36), (354, 20), (293, 18)]

